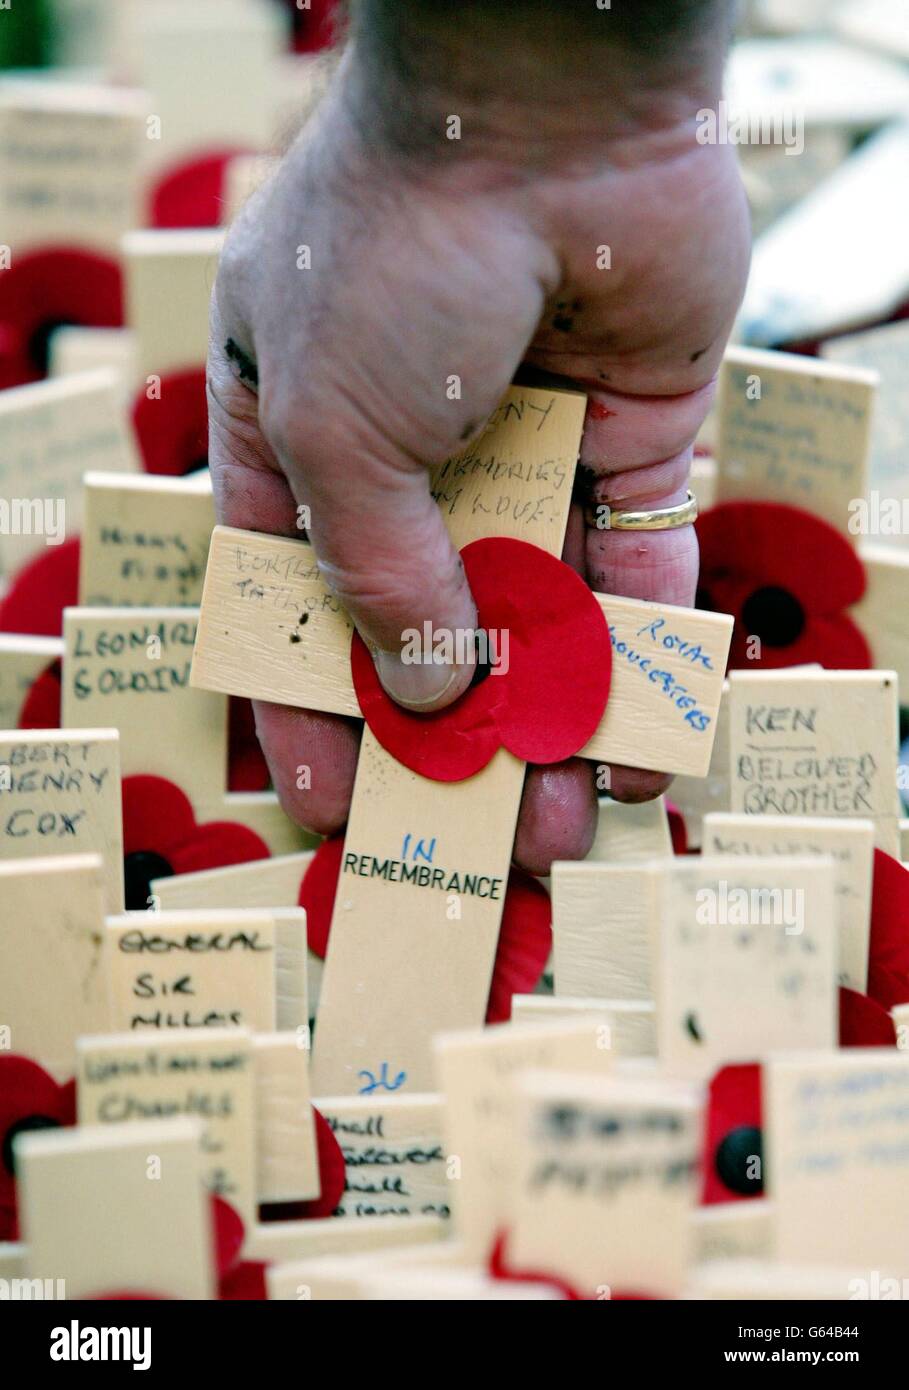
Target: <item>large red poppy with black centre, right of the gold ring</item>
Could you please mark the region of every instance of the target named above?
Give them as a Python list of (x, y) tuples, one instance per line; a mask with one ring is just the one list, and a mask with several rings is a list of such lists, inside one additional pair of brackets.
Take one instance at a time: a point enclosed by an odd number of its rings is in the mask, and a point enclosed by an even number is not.
[(862, 598), (865, 567), (831, 525), (777, 502), (723, 502), (696, 527), (698, 606), (735, 619), (730, 669), (871, 664), (865, 637), (842, 612)]

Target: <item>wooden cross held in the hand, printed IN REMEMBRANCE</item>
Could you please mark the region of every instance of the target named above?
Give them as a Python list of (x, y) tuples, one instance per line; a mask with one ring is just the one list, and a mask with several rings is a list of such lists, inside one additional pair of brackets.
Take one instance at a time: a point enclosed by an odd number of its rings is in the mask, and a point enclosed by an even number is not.
[[(560, 553), (584, 409), (573, 393), (509, 392), (480, 441), (435, 473), (456, 545), (502, 535)], [(612, 687), (582, 755), (706, 771), (731, 619), (612, 596), (600, 605), (614, 645)], [(356, 716), (350, 635), (304, 542), (215, 528), (193, 684)], [(642, 642), (659, 656), (664, 685), (635, 663)], [(680, 687), (698, 719), (674, 703)], [(500, 748), (473, 777), (434, 783), (364, 730), (322, 977), (317, 1094), (350, 1094), (361, 1073), (384, 1068), (403, 1073), (407, 1090), (429, 1090), (431, 1034), (482, 1020), (523, 780), (524, 764)], [(427, 881), (436, 872), (453, 899), (391, 877), (392, 865), (420, 865), (414, 855), (432, 860)], [(464, 894), (467, 881), (488, 894)], [(449, 916), (452, 901), (460, 922)]]

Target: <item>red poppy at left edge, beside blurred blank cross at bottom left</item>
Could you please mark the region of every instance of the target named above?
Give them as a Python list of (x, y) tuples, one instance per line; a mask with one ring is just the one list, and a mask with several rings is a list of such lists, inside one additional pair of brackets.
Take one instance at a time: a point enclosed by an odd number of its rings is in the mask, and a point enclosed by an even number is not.
[(58, 1086), (31, 1058), (0, 1055), (0, 1240), (15, 1240), (18, 1232), (13, 1140), (25, 1130), (75, 1122), (75, 1081)]

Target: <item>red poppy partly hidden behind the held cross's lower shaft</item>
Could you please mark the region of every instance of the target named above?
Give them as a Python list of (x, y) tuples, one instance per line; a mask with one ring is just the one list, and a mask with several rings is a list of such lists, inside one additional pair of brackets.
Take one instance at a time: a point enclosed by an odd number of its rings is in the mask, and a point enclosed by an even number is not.
[[(328, 949), (343, 847), (343, 835), (324, 840), (300, 883), (297, 901), (306, 908), (307, 944), (321, 959)], [(532, 992), (539, 984), (550, 951), (549, 894), (531, 874), (513, 867), (505, 894), (499, 944), (486, 1002), (486, 1023), (507, 1023), (511, 1017), (511, 995)]]

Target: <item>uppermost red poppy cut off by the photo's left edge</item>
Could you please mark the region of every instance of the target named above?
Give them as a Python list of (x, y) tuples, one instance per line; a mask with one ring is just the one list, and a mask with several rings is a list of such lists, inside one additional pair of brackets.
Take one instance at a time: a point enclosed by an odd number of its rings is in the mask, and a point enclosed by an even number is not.
[(0, 391), (47, 374), (54, 328), (120, 328), (122, 321), (115, 261), (67, 246), (17, 254), (8, 270), (0, 270)]

